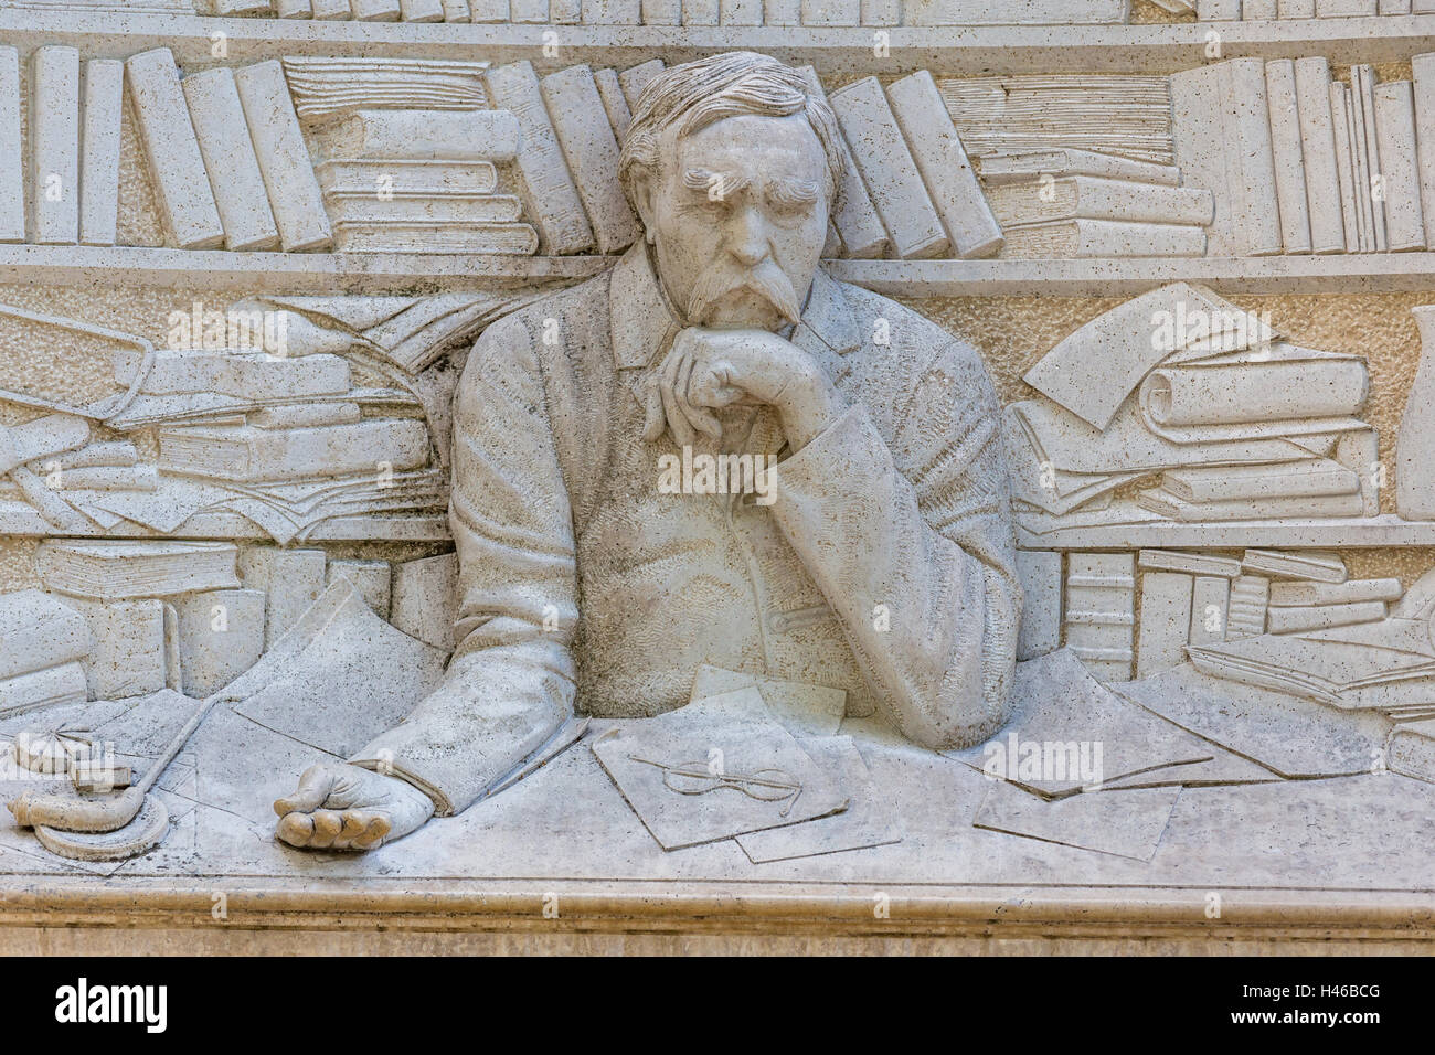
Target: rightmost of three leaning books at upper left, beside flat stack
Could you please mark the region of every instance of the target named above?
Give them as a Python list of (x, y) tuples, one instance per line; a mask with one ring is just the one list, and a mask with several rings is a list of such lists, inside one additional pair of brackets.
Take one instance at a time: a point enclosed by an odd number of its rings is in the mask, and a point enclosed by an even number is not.
[(334, 235), (284, 67), (278, 59), (270, 59), (240, 69), (234, 80), (284, 251), (329, 248)]

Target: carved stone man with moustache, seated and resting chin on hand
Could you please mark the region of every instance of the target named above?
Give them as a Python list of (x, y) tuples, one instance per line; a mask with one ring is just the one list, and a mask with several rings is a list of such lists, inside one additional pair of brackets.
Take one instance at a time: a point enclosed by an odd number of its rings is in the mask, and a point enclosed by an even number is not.
[[(845, 689), (850, 715), (930, 748), (1004, 722), (1020, 591), (997, 402), (970, 346), (818, 267), (841, 158), (827, 103), (773, 59), (643, 90), (620, 178), (644, 241), (488, 327), (464, 372), (448, 675), (352, 765), (307, 771), (276, 804), (283, 840), (397, 838), (575, 708), (682, 706), (702, 663)], [(775, 481), (659, 485), (705, 452), (775, 456)]]

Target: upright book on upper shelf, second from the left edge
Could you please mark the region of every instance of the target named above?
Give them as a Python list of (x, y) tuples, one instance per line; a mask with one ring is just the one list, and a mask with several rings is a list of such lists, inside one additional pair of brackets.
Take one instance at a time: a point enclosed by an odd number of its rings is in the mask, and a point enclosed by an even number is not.
[(30, 55), (30, 241), (80, 237), (80, 53), (46, 44)]

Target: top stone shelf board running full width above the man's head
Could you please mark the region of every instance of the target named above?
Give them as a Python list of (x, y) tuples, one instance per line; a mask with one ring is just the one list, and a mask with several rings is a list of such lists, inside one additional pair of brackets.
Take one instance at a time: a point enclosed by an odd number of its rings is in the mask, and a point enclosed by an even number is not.
[[(215, 55), (215, 34), (225, 55)], [(555, 37), (545, 39), (554, 33)], [(887, 47), (877, 47), (887, 33)], [(283, 55), (415, 55), (430, 59), (530, 59), (541, 69), (587, 62), (669, 63), (749, 49), (824, 73), (1165, 73), (1220, 57), (1325, 55), (1335, 63), (1391, 62), (1435, 50), (1435, 14), (1370, 19), (1149, 23), (1137, 26), (555, 26), (210, 19), (172, 14), (0, 9), (0, 43), (29, 50), (75, 44), (88, 57), (125, 57), (168, 46), (181, 63), (255, 62)], [(554, 53), (554, 50), (557, 53)]]

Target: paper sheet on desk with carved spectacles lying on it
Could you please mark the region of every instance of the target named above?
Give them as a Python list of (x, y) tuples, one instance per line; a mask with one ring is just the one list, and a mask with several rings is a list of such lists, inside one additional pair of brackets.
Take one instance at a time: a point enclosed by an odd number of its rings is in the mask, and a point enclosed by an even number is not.
[[(594, 741), (593, 754), (664, 850), (847, 808), (838, 779), (824, 772), (772, 718), (755, 688), (623, 722)], [(788, 785), (791, 794), (773, 801), (755, 798), (785, 791), (758, 781)]]

